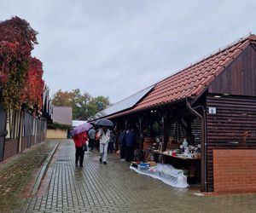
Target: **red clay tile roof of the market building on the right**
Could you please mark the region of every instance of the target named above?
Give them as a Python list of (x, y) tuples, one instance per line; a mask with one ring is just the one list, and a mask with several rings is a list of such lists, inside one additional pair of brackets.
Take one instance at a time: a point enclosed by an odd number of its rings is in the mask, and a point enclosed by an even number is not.
[[(250, 42), (256, 41), (256, 35), (250, 35), (236, 43), (230, 44), (225, 49), (207, 56), (194, 65), (156, 83), (148, 95), (133, 109), (117, 115), (127, 114), (150, 107), (157, 107), (172, 101), (185, 99), (186, 97), (201, 95), (212, 80), (224, 70), (226, 66), (241, 54)], [(110, 118), (110, 117), (108, 117)]]

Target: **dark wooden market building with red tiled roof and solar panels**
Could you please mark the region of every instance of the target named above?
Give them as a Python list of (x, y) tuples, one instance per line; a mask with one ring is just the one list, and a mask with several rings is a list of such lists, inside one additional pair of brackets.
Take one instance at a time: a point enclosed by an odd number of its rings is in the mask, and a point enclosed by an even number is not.
[(256, 192), (256, 36), (250, 35), (99, 112), (167, 147), (201, 144), (201, 190)]

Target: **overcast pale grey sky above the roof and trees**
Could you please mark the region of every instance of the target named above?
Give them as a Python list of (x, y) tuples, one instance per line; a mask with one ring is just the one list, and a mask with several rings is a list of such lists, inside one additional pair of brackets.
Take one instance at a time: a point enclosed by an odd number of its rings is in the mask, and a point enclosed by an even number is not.
[(51, 94), (79, 88), (116, 102), (256, 33), (256, 1), (0, 0), (39, 32), (33, 55)]

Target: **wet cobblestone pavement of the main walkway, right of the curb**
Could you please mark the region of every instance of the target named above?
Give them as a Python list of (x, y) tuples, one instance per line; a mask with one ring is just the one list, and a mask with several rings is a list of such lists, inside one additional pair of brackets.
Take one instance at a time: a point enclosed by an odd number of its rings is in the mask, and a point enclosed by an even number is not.
[[(16, 199), (10, 212), (256, 212), (256, 194), (196, 196), (149, 176), (108, 155), (85, 153), (84, 168), (75, 167), (73, 141), (62, 141), (42, 185), (40, 196)], [(49, 181), (47, 181), (49, 180)], [(40, 193), (39, 193), (40, 194)], [(3, 196), (3, 195), (1, 195)], [(1, 205), (0, 205), (1, 207)], [(1, 208), (0, 208), (1, 210)], [(2, 211), (2, 212), (5, 212)]]

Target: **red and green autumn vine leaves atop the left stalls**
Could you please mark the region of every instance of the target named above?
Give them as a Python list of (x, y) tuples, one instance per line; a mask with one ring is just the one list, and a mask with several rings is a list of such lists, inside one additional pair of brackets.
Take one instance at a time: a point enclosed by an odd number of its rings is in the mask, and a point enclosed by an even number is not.
[(17, 16), (0, 22), (0, 97), (4, 107), (42, 107), (42, 62), (31, 55), (37, 34)]

